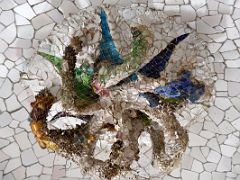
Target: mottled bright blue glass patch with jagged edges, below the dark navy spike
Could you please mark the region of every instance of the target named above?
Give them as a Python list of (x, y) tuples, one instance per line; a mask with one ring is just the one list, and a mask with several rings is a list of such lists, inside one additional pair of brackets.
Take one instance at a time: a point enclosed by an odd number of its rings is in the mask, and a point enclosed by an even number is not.
[(205, 92), (204, 84), (194, 84), (190, 79), (191, 73), (186, 71), (178, 80), (159, 86), (154, 92), (165, 98), (188, 99), (192, 103), (197, 101)]

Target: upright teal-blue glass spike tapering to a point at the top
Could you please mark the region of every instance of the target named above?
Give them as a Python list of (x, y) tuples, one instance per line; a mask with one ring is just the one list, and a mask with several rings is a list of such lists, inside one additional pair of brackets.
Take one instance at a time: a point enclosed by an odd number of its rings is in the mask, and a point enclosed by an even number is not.
[(111, 64), (122, 64), (123, 59), (118, 52), (110, 33), (110, 29), (107, 22), (107, 15), (103, 9), (100, 11), (101, 28), (102, 28), (102, 40), (100, 42), (100, 60), (108, 60)]

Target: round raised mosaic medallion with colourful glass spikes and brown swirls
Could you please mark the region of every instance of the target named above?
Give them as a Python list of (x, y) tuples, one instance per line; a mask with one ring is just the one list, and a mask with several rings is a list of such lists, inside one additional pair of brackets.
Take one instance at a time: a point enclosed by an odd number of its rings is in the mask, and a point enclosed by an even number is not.
[(25, 76), (39, 146), (95, 179), (140, 176), (144, 164), (157, 176), (171, 172), (186, 127), (213, 99), (204, 41), (179, 17), (143, 6), (71, 15), (41, 42)]

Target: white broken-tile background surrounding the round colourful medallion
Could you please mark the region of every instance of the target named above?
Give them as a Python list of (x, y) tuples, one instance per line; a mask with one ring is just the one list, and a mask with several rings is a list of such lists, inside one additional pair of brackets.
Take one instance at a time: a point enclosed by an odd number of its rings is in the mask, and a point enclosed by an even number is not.
[(207, 40), (218, 77), (215, 103), (190, 128), (181, 166), (164, 180), (240, 180), (240, 0), (0, 0), (0, 179), (83, 178), (74, 163), (36, 144), (27, 121), (33, 98), (20, 72), (56, 23), (101, 3), (143, 3), (181, 15)]

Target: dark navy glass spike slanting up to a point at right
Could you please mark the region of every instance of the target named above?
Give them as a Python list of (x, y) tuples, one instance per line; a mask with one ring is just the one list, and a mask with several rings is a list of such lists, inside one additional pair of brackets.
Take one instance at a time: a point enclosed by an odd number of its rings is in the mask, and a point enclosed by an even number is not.
[(158, 55), (153, 57), (153, 59), (143, 66), (138, 72), (144, 76), (157, 79), (160, 77), (160, 72), (166, 67), (176, 45), (183, 41), (189, 34), (183, 34), (175, 39), (173, 39), (167, 47), (162, 50)]

